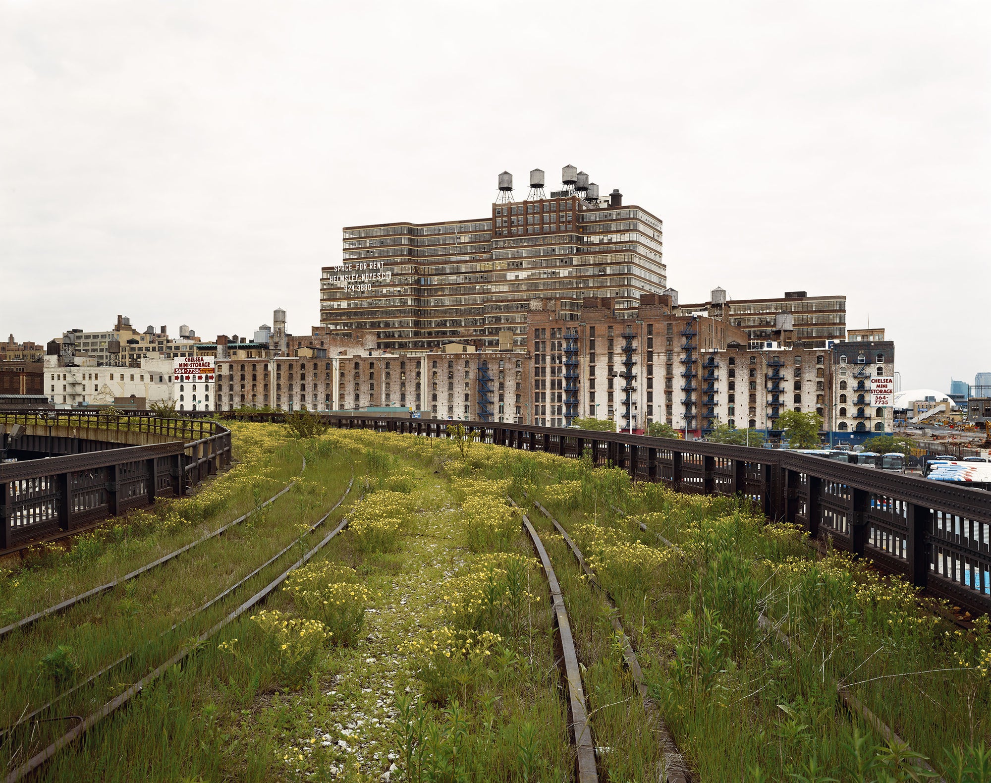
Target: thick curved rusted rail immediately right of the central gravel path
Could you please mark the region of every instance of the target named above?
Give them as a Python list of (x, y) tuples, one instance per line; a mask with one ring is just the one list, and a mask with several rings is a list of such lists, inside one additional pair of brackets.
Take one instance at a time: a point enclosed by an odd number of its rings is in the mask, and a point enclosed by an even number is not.
[[(509, 503), (515, 505), (512, 499)], [(571, 708), (572, 732), (575, 741), (576, 763), (578, 765), (578, 783), (599, 783), (596, 771), (596, 747), (592, 742), (592, 728), (589, 726), (589, 716), (585, 709), (585, 690), (582, 687), (582, 670), (578, 664), (578, 653), (575, 651), (575, 639), (571, 634), (571, 623), (568, 621), (568, 611), (561, 595), (561, 585), (554, 574), (554, 566), (547, 555), (547, 550), (537, 534), (536, 528), (527, 518), (523, 517), (523, 530), (529, 534), (533, 548), (537, 550), (540, 563), (550, 588), (551, 603), (554, 618), (558, 626), (558, 637), (561, 639), (561, 653), (564, 658), (565, 679), (568, 681), (568, 703)]]

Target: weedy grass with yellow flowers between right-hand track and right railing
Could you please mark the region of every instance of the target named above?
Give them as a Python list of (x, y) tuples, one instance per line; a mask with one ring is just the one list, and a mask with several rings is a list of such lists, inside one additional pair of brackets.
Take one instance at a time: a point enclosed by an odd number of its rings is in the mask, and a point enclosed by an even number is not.
[(581, 499), (610, 481), (621, 488), (620, 476), (606, 477), (618, 472), (547, 462), (543, 497), (616, 598), (701, 780), (929, 774), (907, 748), (849, 715), (839, 686), (947, 780), (991, 779), (981, 760), (989, 744), (986, 623), (964, 633), (921, 608), (902, 580), (835, 552), (820, 558), (800, 530), (765, 524), (735, 499), (634, 486), (596, 513)]

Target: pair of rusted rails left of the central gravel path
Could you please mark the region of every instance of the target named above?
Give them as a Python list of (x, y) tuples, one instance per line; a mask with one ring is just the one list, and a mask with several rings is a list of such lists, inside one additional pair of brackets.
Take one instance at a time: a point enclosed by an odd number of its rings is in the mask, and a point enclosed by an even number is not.
[[(353, 486), (354, 486), (354, 474), (352, 474), (351, 481), (348, 483), (348, 487), (345, 490), (344, 494), (341, 496), (341, 498), (337, 501), (337, 503), (334, 503), (334, 505), (331, 506), (331, 508), (322, 517), (320, 517), (320, 519), (318, 519), (316, 522), (310, 525), (306, 530), (304, 530), (288, 545), (286, 545), (279, 552), (277, 552), (268, 561), (263, 563), (261, 566), (256, 568), (247, 576), (243, 577), (234, 585), (231, 585), (230, 587), (226, 588), (224, 591), (219, 593), (210, 601), (198, 607), (189, 615), (183, 617), (181, 620), (173, 624), (170, 628), (165, 630), (161, 635), (165, 635), (171, 631), (174, 631), (180, 625), (188, 622), (192, 617), (205, 612), (210, 607), (214, 606), (218, 602), (229, 597), (239, 588), (243, 587), (247, 582), (256, 578), (266, 568), (272, 566), (275, 563), (275, 561), (284, 557), (291, 549), (295, 548), (298, 544), (300, 544), (304, 538), (314, 533), (317, 530), (317, 528), (322, 526), (327, 521), (327, 519), (330, 518), (333, 512), (337, 510), (337, 508), (339, 508), (340, 505), (344, 503), (344, 501), (347, 499)], [(285, 492), (285, 490), (283, 490), (282, 492)], [(112, 716), (120, 708), (124, 707), (132, 699), (138, 696), (142, 692), (142, 690), (152, 685), (159, 678), (161, 678), (162, 675), (165, 673), (165, 671), (167, 671), (169, 668), (181, 664), (190, 655), (195, 654), (196, 650), (199, 649), (204, 642), (208, 641), (210, 638), (215, 636), (220, 630), (222, 630), (228, 624), (236, 620), (238, 617), (244, 615), (246, 612), (248, 612), (249, 610), (253, 609), (254, 607), (261, 604), (263, 601), (265, 601), (265, 599), (267, 599), (275, 591), (275, 589), (279, 585), (281, 585), (282, 582), (285, 581), (286, 577), (288, 577), (288, 575), (292, 571), (305, 565), (310, 559), (312, 559), (312, 557), (317, 552), (323, 549), (323, 547), (326, 546), (338, 533), (346, 529), (348, 527), (348, 524), (349, 524), (349, 519), (347, 517), (344, 517), (340, 521), (340, 523), (338, 523), (337, 526), (334, 527), (333, 530), (327, 533), (315, 546), (313, 546), (307, 552), (305, 552), (298, 560), (293, 562), (291, 565), (289, 565), (288, 568), (286, 568), (284, 571), (278, 574), (278, 576), (276, 576), (274, 580), (269, 582), (265, 587), (263, 587), (261, 590), (255, 593), (250, 599), (248, 599), (243, 604), (241, 604), (237, 609), (233, 610), (228, 615), (225, 615), (218, 622), (212, 625), (209, 629), (196, 636), (190, 642), (186, 643), (181, 649), (179, 649), (176, 653), (174, 653), (167, 660), (165, 660), (164, 663), (160, 664), (149, 674), (145, 675), (140, 680), (135, 682), (122, 694), (106, 702), (102, 707), (100, 707), (98, 710), (91, 713), (90, 715), (86, 716), (85, 718), (82, 718), (81, 716), (75, 717), (79, 720), (79, 723), (76, 726), (70, 728), (69, 730), (65, 731), (63, 734), (58, 736), (53, 742), (47, 745), (44, 749), (31, 756), (31, 758), (29, 758), (25, 763), (11, 770), (8, 773), (8, 775), (4, 778), (5, 783), (15, 783), (15, 781), (23, 780), (26, 777), (37, 772), (46, 763), (48, 763), (59, 750), (64, 748), (66, 745), (71, 744), (73, 741), (81, 737), (86, 731), (88, 731), (92, 727), (97, 726), (103, 719)], [(132, 655), (134, 655), (134, 652), (128, 653), (128, 655), (118, 659), (117, 661), (105, 667), (104, 669), (101, 669), (99, 672), (92, 675), (85, 682), (80, 683), (78, 686), (75, 686), (74, 688), (62, 693), (54, 701), (34, 711), (31, 715), (20, 719), (14, 726), (9, 727), (8, 729), (4, 729), (3, 733), (12, 731), (20, 726), (28, 725), (31, 723), (38, 723), (39, 720), (44, 721), (45, 719), (39, 719), (39, 716), (41, 716), (44, 712), (50, 710), (59, 700), (69, 696), (70, 694), (78, 691), (79, 689), (85, 687), (86, 685), (92, 684), (99, 677), (105, 675), (106, 673), (113, 670), (117, 666), (123, 664)]]

